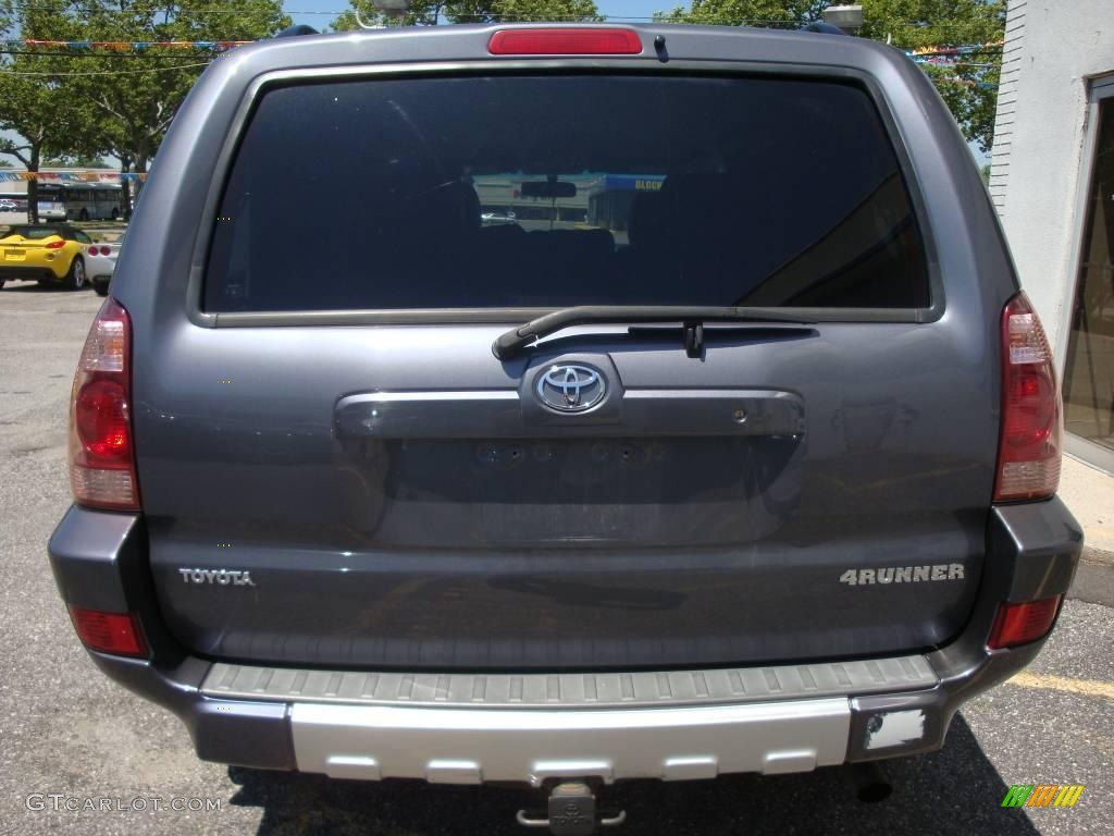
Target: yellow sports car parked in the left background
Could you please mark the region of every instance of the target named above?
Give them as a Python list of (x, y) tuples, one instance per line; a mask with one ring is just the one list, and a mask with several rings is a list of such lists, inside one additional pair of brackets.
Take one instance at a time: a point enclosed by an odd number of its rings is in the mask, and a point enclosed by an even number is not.
[(0, 233), (0, 288), (6, 281), (23, 279), (81, 290), (85, 253), (91, 243), (88, 235), (67, 224), (12, 226)]

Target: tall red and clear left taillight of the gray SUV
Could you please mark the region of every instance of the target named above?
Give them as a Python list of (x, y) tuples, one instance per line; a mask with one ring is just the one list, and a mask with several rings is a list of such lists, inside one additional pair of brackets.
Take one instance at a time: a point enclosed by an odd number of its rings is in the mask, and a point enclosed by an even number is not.
[(89, 329), (74, 377), (69, 466), (75, 502), (139, 511), (131, 437), (131, 322), (111, 298)]

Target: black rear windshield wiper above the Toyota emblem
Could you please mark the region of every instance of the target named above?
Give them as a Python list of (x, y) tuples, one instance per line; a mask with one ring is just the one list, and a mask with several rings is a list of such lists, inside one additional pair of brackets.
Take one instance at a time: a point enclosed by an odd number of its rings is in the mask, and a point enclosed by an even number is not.
[(500, 360), (517, 357), (535, 340), (570, 325), (588, 322), (681, 322), (685, 329), (688, 357), (700, 357), (704, 344), (705, 322), (789, 322), (810, 325), (814, 320), (763, 308), (687, 308), (681, 305), (582, 305), (563, 308), (512, 328), (491, 343), (491, 353)]

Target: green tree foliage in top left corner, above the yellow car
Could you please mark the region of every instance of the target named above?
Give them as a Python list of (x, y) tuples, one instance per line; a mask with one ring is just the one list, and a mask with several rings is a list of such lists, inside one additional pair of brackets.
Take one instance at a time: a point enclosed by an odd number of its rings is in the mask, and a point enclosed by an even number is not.
[[(290, 18), (281, 0), (0, 0), (0, 25), (20, 38), (42, 40), (254, 40), (289, 26)], [(14, 154), (32, 171), (46, 155), (102, 154), (146, 171), (212, 59), (194, 49), (28, 51), (0, 58), (0, 129), (21, 137), (0, 140), (0, 152)]]

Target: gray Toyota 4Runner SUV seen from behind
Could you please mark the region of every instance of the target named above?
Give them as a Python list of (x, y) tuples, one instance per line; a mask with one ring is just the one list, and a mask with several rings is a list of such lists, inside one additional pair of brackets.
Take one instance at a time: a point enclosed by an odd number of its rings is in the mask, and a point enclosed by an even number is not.
[(1029, 663), (1079, 553), (971, 155), (854, 38), (237, 49), (110, 291), (51, 564), (208, 760), (524, 782), (557, 833), (615, 780), (861, 771)]

